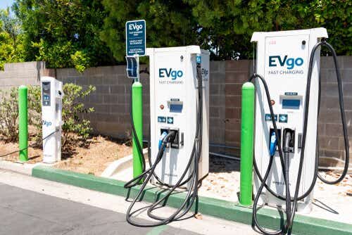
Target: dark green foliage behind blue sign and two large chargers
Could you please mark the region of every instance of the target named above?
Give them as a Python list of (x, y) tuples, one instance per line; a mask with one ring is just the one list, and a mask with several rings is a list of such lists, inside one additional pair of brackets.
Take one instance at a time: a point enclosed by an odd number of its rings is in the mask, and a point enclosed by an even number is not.
[(339, 55), (351, 55), (348, 0), (103, 0), (101, 38), (118, 61), (125, 54), (125, 21), (146, 20), (147, 46), (198, 44), (215, 60), (252, 58), (255, 31), (326, 27)]

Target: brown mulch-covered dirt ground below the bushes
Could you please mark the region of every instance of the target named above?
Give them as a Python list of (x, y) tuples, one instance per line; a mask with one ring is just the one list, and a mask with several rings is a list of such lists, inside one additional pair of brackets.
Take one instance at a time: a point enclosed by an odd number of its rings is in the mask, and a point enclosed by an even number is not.
[[(29, 143), (32, 144), (32, 143)], [(18, 144), (0, 141), (0, 155), (18, 150)], [(113, 141), (103, 136), (94, 136), (89, 140), (87, 148), (78, 147), (73, 153), (62, 154), (62, 161), (54, 167), (74, 172), (95, 174), (99, 176), (114, 160), (123, 158), (132, 153), (132, 148), (119, 141)], [(28, 148), (28, 162), (42, 162), (42, 148)], [(8, 155), (1, 160), (18, 161), (18, 153)]]

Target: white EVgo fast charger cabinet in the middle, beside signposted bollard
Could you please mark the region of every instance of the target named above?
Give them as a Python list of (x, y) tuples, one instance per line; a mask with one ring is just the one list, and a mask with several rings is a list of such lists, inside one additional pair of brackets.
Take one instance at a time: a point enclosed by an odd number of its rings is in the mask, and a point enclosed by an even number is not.
[[(199, 179), (209, 170), (209, 53), (199, 46), (149, 48), (151, 161), (156, 159), (158, 141), (163, 132), (175, 130), (176, 137), (165, 149), (165, 157), (156, 167), (156, 175), (166, 184), (175, 184), (187, 166), (196, 133), (197, 76), (196, 57), (201, 56), (203, 80), (203, 144), (199, 161)], [(190, 174), (188, 174), (184, 179)]]

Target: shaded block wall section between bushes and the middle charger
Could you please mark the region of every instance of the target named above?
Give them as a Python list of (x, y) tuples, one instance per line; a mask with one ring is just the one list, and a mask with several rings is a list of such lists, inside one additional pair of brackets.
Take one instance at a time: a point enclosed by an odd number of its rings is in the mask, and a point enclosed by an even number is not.
[[(145, 66), (142, 65), (142, 68)], [(94, 113), (85, 118), (91, 121), (96, 134), (127, 138), (130, 136), (130, 87), (125, 66), (89, 68), (82, 74), (73, 68), (58, 69), (58, 80), (63, 83), (80, 84), (84, 89), (89, 85), (96, 91), (84, 101), (86, 107), (93, 107)], [(144, 85), (144, 133), (148, 133), (149, 122), (149, 80), (141, 76)]]

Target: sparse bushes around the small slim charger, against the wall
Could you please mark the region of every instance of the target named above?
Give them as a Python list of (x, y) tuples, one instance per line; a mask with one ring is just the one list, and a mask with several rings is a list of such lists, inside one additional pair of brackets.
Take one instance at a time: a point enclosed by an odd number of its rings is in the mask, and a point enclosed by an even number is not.
[[(95, 87), (87, 89), (77, 84), (63, 85), (63, 152), (70, 152), (76, 146), (84, 144), (92, 131), (85, 113), (94, 112), (94, 108), (86, 108), (84, 99), (95, 91)], [(0, 91), (0, 137), (5, 141), (18, 141), (18, 89), (10, 92)], [(28, 124), (37, 129), (34, 141), (42, 144), (42, 103), (40, 87), (28, 87)]]

